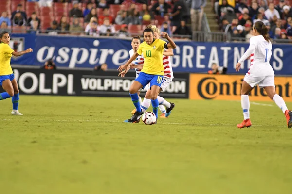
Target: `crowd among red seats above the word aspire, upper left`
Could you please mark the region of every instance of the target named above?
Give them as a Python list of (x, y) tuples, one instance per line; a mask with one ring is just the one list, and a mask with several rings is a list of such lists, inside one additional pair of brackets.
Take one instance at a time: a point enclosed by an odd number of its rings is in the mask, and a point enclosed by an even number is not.
[(126, 37), (154, 23), (170, 35), (190, 36), (187, 4), (192, 1), (196, 0), (1, 0), (0, 28)]

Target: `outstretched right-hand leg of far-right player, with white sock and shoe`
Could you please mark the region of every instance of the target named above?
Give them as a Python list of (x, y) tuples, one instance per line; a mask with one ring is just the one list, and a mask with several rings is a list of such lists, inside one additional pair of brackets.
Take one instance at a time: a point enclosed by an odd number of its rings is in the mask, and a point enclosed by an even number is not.
[(286, 121), (287, 121), (287, 126), (288, 128), (292, 127), (292, 112), (288, 110), (285, 101), (283, 100), (282, 97), (280, 97), (275, 90), (274, 86), (267, 86), (264, 87), (268, 97), (271, 98), (271, 100), (274, 100), (274, 102), (278, 105), (278, 107), (283, 111)]

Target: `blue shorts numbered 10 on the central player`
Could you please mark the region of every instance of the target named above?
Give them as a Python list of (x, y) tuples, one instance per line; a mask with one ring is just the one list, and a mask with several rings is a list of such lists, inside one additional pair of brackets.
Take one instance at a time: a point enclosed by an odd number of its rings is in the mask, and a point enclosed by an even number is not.
[(141, 83), (143, 88), (148, 83), (150, 83), (150, 88), (151, 88), (153, 85), (157, 85), (158, 87), (160, 87), (162, 83), (162, 79), (163, 79), (163, 76), (161, 75), (152, 75), (152, 74), (140, 72), (138, 78), (136, 78), (135, 81), (138, 81), (139, 83)]

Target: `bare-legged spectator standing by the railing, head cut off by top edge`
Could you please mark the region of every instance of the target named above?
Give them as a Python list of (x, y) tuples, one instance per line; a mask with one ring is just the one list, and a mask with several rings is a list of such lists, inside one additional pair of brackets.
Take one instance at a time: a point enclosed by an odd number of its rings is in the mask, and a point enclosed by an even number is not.
[(192, 0), (191, 5), (192, 31), (201, 31), (204, 7), (206, 6), (206, 4), (207, 0)]

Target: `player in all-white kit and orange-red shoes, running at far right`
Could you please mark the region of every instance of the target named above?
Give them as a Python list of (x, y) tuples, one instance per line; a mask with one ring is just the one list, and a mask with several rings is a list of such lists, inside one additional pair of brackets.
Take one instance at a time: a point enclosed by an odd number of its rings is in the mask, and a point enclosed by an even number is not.
[(257, 21), (253, 26), (254, 37), (250, 39), (250, 46), (239, 59), (236, 71), (244, 60), (250, 57), (251, 67), (244, 76), (241, 88), (241, 107), (243, 109), (244, 120), (238, 124), (238, 128), (250, 127), (252, 123), (249, 115), (249, 96), (248, 94), (258, 84), (265, 89), (267, 95), (275, 101), (285, 114), (288, 128), (292, 127), (292, 112), (288, 110), (282, 97), (276, 94), (274, 83), (274, 70), (269, 61), (272, 55), (272, 43), (268, 37), (268, 29), (261, 21)]

